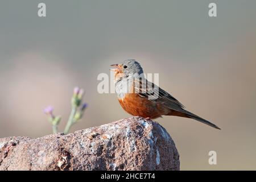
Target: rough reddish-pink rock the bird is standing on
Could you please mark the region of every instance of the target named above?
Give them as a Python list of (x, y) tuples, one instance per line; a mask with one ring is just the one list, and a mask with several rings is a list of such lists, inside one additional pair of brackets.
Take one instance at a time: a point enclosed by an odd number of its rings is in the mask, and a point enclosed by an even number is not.
[(0, 139), (0, 170), (179, 170), (166, 129), (141, 117), (42, 138)]

